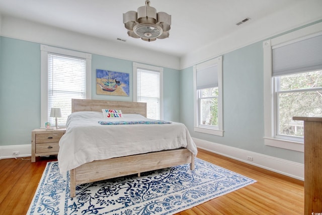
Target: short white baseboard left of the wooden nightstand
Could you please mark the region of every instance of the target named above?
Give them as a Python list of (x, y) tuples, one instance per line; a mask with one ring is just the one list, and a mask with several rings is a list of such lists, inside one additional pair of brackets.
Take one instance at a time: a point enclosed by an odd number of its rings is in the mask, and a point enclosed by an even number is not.
[[(19, 152), (19, 155), (13, 155), (13, 152)], [(0, 159), (22, 158), (31, 156), (31, 144), (0, 146)]]

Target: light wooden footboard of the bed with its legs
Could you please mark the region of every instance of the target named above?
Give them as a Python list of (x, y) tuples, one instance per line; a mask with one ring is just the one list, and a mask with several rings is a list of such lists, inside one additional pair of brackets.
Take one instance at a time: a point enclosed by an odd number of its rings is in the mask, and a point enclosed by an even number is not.
[(76, 195), (76, 185), (132, 175), (182, 164), (189, 164), (194, 170), (194, 155), (187, 149), (112, 158), (93, 161), (70, 170), (70, 197)]

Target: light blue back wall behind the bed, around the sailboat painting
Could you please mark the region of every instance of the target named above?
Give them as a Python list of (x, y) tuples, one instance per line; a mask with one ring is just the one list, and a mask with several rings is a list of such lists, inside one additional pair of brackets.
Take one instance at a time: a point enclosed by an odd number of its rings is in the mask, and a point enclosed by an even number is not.
[[(0, 37), (0, 146), (31, 144), (40, 125), (40, 44)], [(96, 95), (96, 69), (130, 74), (130, 96)], [(132, 101), (132, 61), (92, 55), (92, 99)], [(164, 68), (164, 119), (179, 121), (180, 71)]]

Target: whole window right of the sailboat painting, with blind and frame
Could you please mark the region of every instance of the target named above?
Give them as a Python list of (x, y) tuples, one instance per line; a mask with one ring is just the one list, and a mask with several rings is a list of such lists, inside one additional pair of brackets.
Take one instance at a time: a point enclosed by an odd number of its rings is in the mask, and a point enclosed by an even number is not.
[(147, 103), (147, 118), (163, 119), (163, 68), (133, 63), (134, 101)]

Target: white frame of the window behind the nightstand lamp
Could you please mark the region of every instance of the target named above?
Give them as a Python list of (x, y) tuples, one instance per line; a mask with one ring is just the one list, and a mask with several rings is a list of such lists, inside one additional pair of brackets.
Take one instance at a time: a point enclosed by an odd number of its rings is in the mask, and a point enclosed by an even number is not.
[[(57, 48), (47, 45), (40, 45), (41, 51), (41, 73), (40, 73), (40, 88), (41, 88), (41, 102), (40, 102), (40, 122), (41, 127), (48, 122), (48, 53), (57, 53), (73, 57), (81, 57), (86, 59), (86, 98), (92, 97), (92, 54), (73, 51), (69, 49)], [(63, 127), (63, 126), (60, 126)]]

